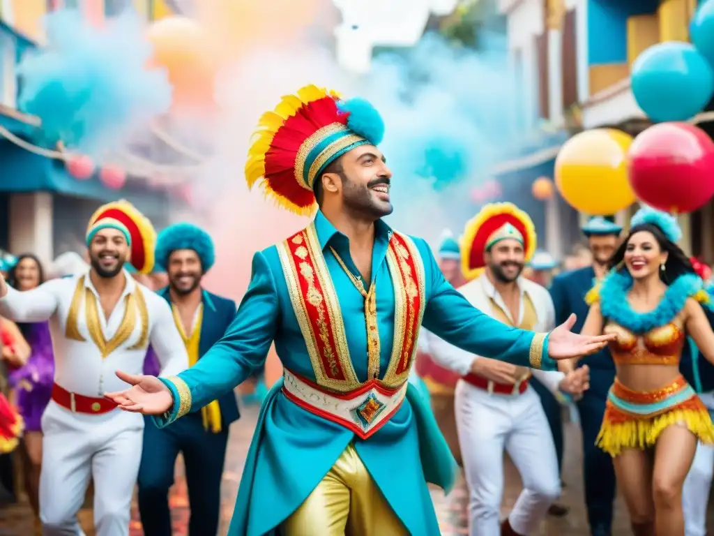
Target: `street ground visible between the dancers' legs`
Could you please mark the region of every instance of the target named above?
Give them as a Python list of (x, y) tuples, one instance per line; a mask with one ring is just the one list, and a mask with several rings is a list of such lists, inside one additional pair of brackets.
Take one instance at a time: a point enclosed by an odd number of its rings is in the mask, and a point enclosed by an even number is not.
[[(238, 492), (238, 482), (243, 469), (248, 445), (253, 435), (253, 427), (256, 422), (258, 410), (256, 407), (243, 409), (243, 417), (236, 422), (231, 429), (231, 441), (226, 458), (226, 472), (223, 475), (223, 500), (221, 505), (221, 536), (228, 530), (228, 522), (233, 513), (233, 504)], [(566, 425), (565, 439), (567, 452), (565, 455), (565, 489), (561, 504), (570, 508), (570, 512), (565, 517), (548, 517), (541, 527), (540, 535), (547, 536), (586, 536), (588, 527), (585, 522), (585, 508), (582, 504), (583, 496), (582, 482), (580, 476), (580, 437), (577, 425), (569, 423)], [(188, 500), (186, 494), (186, 484), (181, 477), (183, 465), (177, 465), (176, 485), (171, 492), (171, 507), (174, 515), (174, 535), (181, 536), (187, 534), (188, 525)], [(503, 514), (513, 506), (521, 491), (521, 482), (513, 465), (506, 460), (506, 492), (503, 497)], [(466, 530), (466, 487), (463, 479), (448, 497), (443, 493), (434, 490), (433, 499), (441, 523), (443, 536), (457, 536), (468, 534)], [(711, 515), (710, 523), (714, 522)], [(87, 536), (94, 535), (91, 530), (91, 510), (86, 509), (81, 512), (81, 521)], [(711, 525), (710, 525), (711, 526)], [(30, 536), (34, 534), (33, 524), (29, 507), (23, 502), (19, 505), (4, 507), (0, 510), (0, 536)], [(134, 511), (134, 521), (131, 525), (131, 536), (141, 536), (139, 516)], [(615, 527), (613, 536), (627, 536), (630, 534), (627, 514), (623, 502), (618, 500), (615, 514)], [(151, 535), (149, 535), (151, 536)]]

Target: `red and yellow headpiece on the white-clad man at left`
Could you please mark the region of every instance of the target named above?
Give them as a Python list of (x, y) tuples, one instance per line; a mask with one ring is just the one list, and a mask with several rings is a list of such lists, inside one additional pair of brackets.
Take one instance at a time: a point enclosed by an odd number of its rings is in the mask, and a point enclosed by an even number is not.
[(156, 230), (149, 219), (128, 201), (107, 203), (92, 214), (87, 225), (87, 245), (100, 229), (111, 227), (124, 233), (131, 247), (131, 264), (141, 274), (154, 269)]

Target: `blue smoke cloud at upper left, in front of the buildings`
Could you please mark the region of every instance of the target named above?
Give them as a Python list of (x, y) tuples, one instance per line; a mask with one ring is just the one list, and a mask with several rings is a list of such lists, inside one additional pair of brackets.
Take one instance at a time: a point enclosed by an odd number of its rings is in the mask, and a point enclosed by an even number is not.
[(78, 11), (46, 17), (47, 46), (19, 66), (19, 108), (39, 116), (51, 143), (101, 158), (171, 106), (166, 71), (146, 69), (151, 44), (133, 11), (101, 28)]

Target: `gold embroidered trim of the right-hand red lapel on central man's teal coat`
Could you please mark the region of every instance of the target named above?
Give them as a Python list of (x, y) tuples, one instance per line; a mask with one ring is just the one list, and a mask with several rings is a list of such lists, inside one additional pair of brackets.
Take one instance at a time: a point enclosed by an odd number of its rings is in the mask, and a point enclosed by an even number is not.
[[(393, 234), (397, 233), (393, 232)], [(421, 321), (426, 307), (426, 275), (419, 250), (417, 249), (416, 244), (414, 244), (405, 234), (399, 233), (397, 236), (400, 237), (406, 244), (406, 249), (401, 247), (401, 244), (394, 248), (397, 249), (398, 255), (394, 253), (393, 248), (390, 247), (387, 249), (387, 266), (389, 268), (389, 273), (391, 274), (392, 284), (394, 287), (394, 340), (387, 372), (382, 379), (382, 383), (387, 387), (398, 387), (409, 377), (411, 364), (413, 364), (414, 357), (416, 355), (416, 341), (419, 337)], [(416, 274), (411, 273), (411, 267), (409, 267), (404, 260), (405, 258), (408, 259), (410, 256), (412, 257), (414, 266), (416, 267)], [(406, 282), (403, 282), (400, 266), (407, 279)], [(421, 306), (413, 315), (414, 321), (407, 324), (406, 309), (407, 307), (412, 307), (412, 300), (416, 297), (417, 292), (418, 295), (421, 296)], [(404, 369), (401, 373), (397, 374), (397, 369), (401, 362), (403, 344), (405, 344), (407, 337), (413, 337), (413, 347), (411, 349), (411, 354), (409, 355), (410, 366), (406, 367), (406, 369)]]

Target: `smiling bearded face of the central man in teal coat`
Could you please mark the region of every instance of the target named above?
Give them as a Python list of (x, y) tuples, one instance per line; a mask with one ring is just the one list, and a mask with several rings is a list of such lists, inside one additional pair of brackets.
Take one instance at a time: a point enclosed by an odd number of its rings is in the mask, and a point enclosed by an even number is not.
[(368, 219), (391, 214), (389, 200), (392, 172), (384, 155), (373, 145), (361, 145), (343, 154), (338, 161), (341, 172), (321, 177), (325, 199), (336, 194), (342, 206)]

